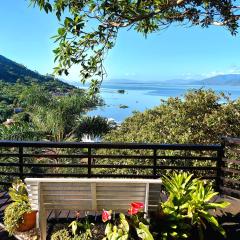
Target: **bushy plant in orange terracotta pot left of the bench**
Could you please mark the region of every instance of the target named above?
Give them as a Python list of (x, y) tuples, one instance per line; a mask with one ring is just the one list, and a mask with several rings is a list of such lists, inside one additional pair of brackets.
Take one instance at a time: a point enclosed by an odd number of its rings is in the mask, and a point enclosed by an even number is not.
[(34, 228), (37, 211), (32, 210), (26, 186), (21, 180), (12, 184), (9, 188), (9, 196), (13, 202), (4, 211), (4, 225), (9, 234)]

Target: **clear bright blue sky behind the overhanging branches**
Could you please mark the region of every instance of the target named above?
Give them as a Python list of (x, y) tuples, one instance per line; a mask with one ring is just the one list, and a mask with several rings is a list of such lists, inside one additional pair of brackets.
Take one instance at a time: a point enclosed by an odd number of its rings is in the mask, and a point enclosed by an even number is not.
[[(54, 15), (28, 7), (25, 0), (4, 0), (0, 7), (0, 54), (42, 74), (54, 67), (58, 22)], [(240, 73), (240, 35), (221, 27), (201, 29), (173, 26), (145, 39), (121, 31), (105, 61), (108, 78), (158, 81), (201, 79)], [(78, 81), (78, 68), (70, 81)]]

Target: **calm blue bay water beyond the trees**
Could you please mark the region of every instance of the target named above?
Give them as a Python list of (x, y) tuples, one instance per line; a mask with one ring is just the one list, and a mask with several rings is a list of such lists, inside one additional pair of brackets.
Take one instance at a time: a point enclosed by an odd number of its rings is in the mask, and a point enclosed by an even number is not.
[[(100, 115), (121, 123), (134, 111), (144, 111), (161, 104), (161, 99), (180, 97), (190, 89), (212, 89), (218, 93), (228, 94), (232, 100), (240, 97), (240, 86), (200, 86), (200, 85), (166, 85), (160, 82), (123, 82), (104, 83), (101, 96), (106, 105), (91, 112), (90, 116)], [(119, 93), (118, 90), (124, 90)]]

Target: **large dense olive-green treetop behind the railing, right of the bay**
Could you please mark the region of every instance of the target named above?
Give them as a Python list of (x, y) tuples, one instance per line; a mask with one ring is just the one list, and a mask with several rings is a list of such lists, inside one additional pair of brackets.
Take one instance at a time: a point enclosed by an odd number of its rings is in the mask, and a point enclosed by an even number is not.
[(105, 141), (148, 143), (219, 143), (240, 135), (240, 99), (231, 101), (212, 90), (192, 90), (137, 112), (107, 134)]

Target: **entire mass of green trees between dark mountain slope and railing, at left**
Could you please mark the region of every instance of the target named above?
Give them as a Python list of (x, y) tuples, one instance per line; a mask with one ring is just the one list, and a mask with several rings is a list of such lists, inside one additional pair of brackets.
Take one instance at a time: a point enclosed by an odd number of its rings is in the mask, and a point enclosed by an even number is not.
[[(0, 124), (0, 136), (5, 140), (81, 140), (90, 128), (89, 134), (100, 136), (111, 128), (107, 119), (82, 120), (89, 110), (102, 104), (98, 95), (90, 96), (74, 87), (65, 92), (45, 83), (0, 81), (0, 123), (7, 118), (14, 122), (10, 126)], [(16, 109), (20, 112), (15, 112)]]

